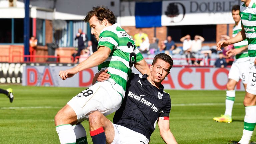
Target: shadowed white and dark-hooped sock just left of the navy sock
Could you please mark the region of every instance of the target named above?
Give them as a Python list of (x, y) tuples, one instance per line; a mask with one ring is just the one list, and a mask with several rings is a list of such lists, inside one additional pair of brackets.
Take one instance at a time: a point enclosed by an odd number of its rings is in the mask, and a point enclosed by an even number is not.
[(77, 143), (87, 144), (86, 131), (81, 123), (73, 125), (73, 129), (76, 135)]

